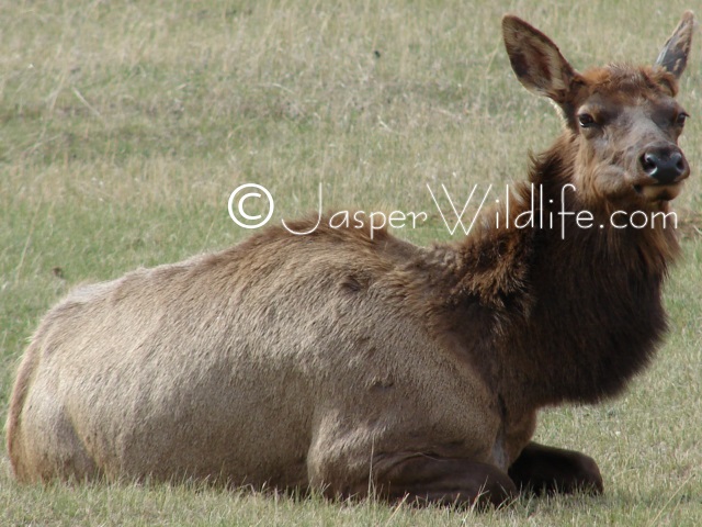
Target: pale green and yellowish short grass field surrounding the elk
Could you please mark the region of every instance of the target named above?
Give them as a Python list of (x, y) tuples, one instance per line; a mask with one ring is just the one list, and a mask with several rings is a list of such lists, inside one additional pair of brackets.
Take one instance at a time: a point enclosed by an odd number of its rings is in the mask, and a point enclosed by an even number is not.
[[(380, 5), (382, 3), (382, 5)], [(500, 16), (578, 68), (652, 61), (678, 0), (0, 1), (0, 421), (43, 313), (72, 285), (229, 246), (227, 199), (257, 182), (271, 222), (324, 208), (427, 211), (428, 192), (525, 177), (561, 123), (516, 80)], [(702, 15), (701, 13), (698, 13)], [(702, 34), (680, 100), (693, 176), (684, 257), (653, 368), (600, 406), (544, 412), (536, 438), (593, 456), (605, 495), (483, 514), (197, 485), (20, 486), (0, 448), (0, 525), (702, 525)], [(574, 299), (577, 302), (577, 299)]]

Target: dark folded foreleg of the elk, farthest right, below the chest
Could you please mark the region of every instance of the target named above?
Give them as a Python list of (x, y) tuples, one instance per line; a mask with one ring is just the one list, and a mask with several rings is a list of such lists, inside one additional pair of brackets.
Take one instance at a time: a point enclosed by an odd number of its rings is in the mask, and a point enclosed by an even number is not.
[(514, 484), (536, 494), (585, 491), (601, 494), (602, 475), (584, 453), (530, 442), (509, 468)]

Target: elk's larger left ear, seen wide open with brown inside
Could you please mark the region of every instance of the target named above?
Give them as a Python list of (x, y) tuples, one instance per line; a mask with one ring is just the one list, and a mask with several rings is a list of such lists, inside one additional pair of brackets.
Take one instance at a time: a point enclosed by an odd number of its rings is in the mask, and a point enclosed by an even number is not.
[(502, 37), (512, 69), (524, 88), (564, 104), (577, 72), (558, 47), (541, 31), (511, 14), (502, 18)]

